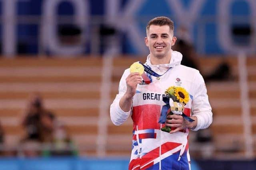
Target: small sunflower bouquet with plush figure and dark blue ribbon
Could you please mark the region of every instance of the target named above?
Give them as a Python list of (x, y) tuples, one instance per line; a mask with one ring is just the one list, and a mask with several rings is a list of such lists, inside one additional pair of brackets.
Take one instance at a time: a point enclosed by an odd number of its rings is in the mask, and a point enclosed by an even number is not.
[[(188, 121), (191, 121), (190, 117), (186, 116), (183, 113), (184, 106), (189, 101), (188, 92), (182, 87), (171, 86), (165, 91), (166, 97), (163, 98), (163, 101), (166, 103), (165, 106), (162, 107), (161, 116), (159, 123), (165, 123), (168, 115), (182, 115)], [(193, 121), (193, 120), (192, 120)], [(161, 128), (162, 131), (170, 132), (170, 127)]]

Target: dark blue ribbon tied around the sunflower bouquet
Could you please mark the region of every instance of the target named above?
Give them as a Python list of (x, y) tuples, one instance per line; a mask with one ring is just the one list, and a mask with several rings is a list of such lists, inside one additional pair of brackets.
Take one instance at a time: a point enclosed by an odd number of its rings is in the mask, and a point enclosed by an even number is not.
[[(160, 115), (160, 119), (158, 121), (158, 123), (166, 123), (166, 118), (167, 118), (167, 111), (168, 109), (170, 109), (170, 104), (169, 104), (169, 101), (170, 99), (168, 97), (164, 97), (163, 98), (163, 101), (166, 105), (164, 105), (162, 107), (162, 110), (161, 110), (161, 115)], [(188, 117), (187, 115), (185, 115), (183, 112), (182, 112), (182, 117), (184, 117), (184, 119), (186, 119), (187, 121), (189, 122), (192, 122), (194, 121), (193, 119), (191, 119), (190, 117)]]

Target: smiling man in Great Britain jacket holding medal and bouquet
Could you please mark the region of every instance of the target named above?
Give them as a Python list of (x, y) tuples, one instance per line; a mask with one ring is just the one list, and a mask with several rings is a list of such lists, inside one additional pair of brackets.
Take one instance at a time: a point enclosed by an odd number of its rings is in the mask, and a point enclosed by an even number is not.
[[(204, 80), (198, 70), (181, 65), (182, 55), (172, 51), (175, 44), (174, 24), (166, 17), (149, 21), (146, 27), (146, 46), (150, 54), (146, 66), (162, 76), (147, 74), (150, 83), (142, 81), (139, 73), (124, 71), (119, 94), (110, 106), (110, 117), (121, 125), (131, 115), (133, 120), (132, 154), (129, 170), (189, 170), (188, 129), (197, 131), (212, 123), (212, 111)], [(162, 98), (170, 86), (183, 87), (190, 95), (186, 104), (187, 115), (169, 115), (165, 124), (158, 123)], [(193, 115), (190, 115), (190, 109)], [(170, 133), (161, 131), (164, 126)]]

